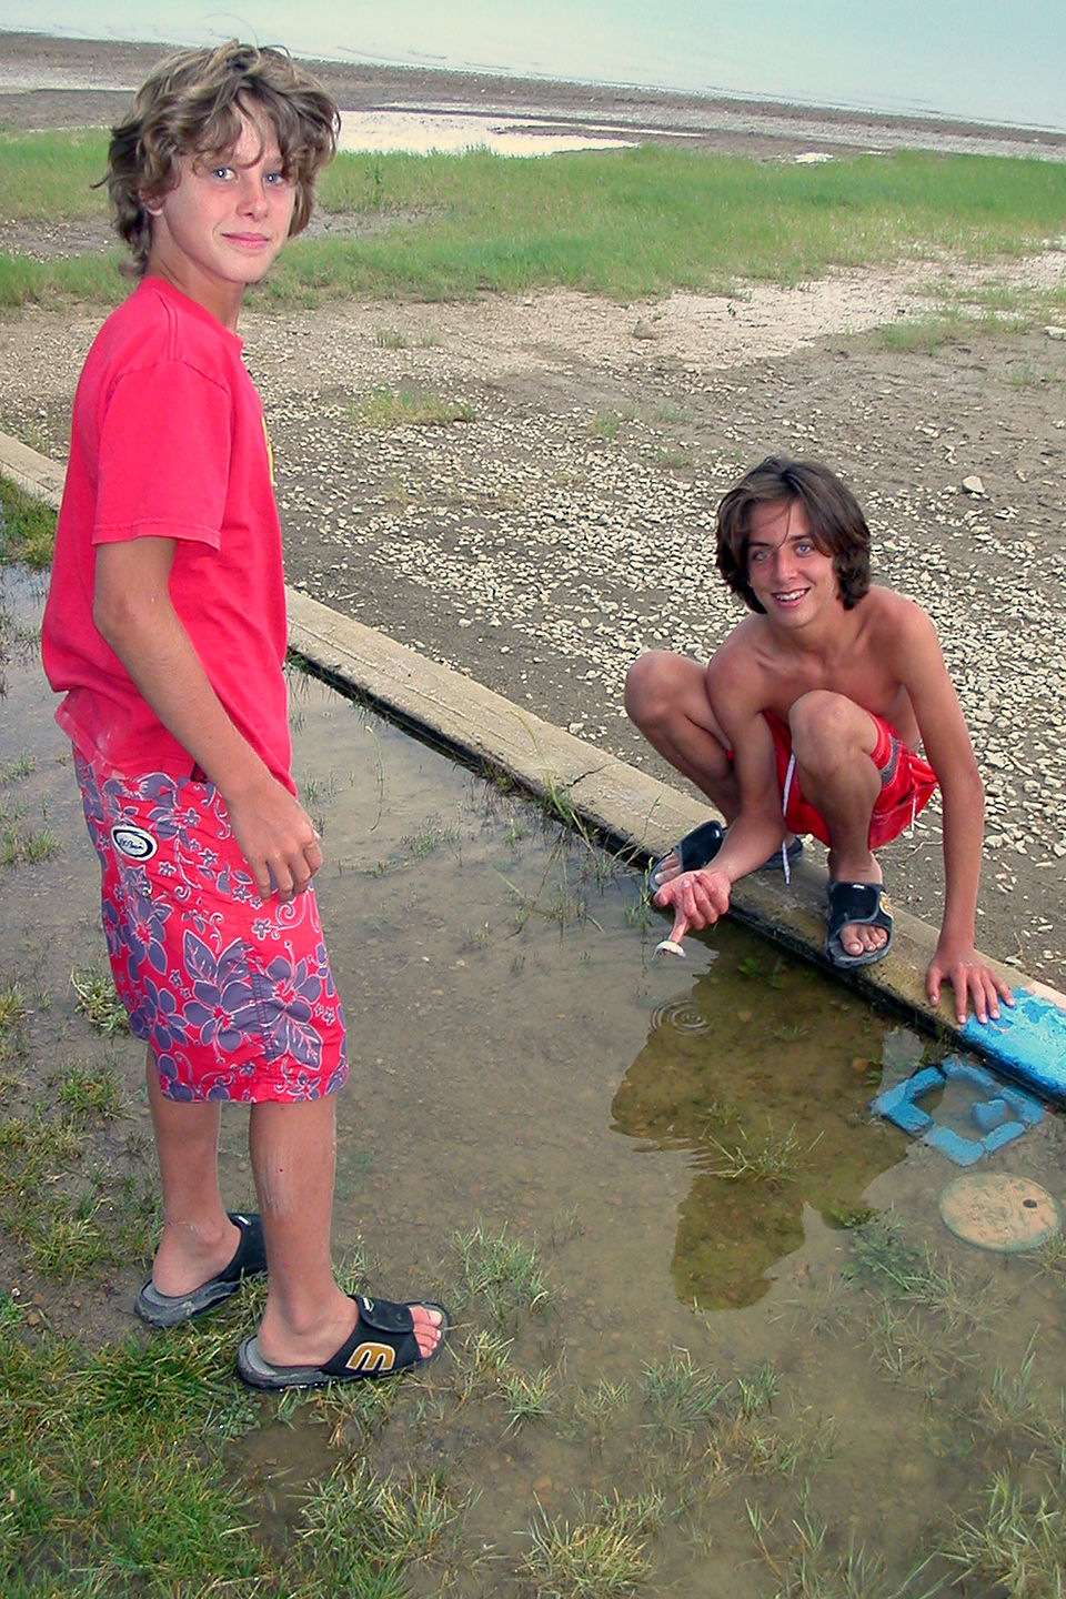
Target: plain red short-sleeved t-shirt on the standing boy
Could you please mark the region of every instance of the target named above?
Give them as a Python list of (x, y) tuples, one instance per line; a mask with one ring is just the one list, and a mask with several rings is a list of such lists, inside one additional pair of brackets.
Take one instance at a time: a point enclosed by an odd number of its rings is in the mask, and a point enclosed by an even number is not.
[(70, 462), (45, 606), (56, 721), (94, 764), (192, 774), (93, 624), (96, 545), (176, 539), (169, 593), (243, 737), (292, 788), (283, 675), (281, 531), (262, 405), (241, 341), (161, 278), (101, 328), (74, 401)]

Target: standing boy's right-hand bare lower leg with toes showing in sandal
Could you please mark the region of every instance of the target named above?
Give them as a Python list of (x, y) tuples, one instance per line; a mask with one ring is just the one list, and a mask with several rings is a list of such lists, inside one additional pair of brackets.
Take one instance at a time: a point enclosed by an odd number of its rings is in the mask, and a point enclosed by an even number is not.
[[(358, 1319), (355, 1300), (337, 1287), (329, 1258), (334, 1095), (253, 1105), (249, 1148), (268, 1274), (259, 1353), (272, 1366), (321, 1366)], [(422, 1306), (411, 1313), (425, 1358), (441, 1337), (438, 1318)]]

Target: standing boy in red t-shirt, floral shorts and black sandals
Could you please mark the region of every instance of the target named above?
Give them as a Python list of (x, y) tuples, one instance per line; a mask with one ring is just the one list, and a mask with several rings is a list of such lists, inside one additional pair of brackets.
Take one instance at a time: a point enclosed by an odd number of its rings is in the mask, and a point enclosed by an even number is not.
[[(115, 983), (149, 1044), (163, 1236), (136, 1308), (174, 1326), (267, 1271), (238, 1351), (261, 1388), (419, 1366), (447, 1329), (438, 1305), (350, 1298), (332, 1276), (344, 1017), (289, 774), (281, 536), (237, 337), (337, 123), (284, 53), (230, 42), (163, 62), (115, 128), (107, 182), (142, 281), (78, 384), (43, 628)], [(224, 1100), (251, 1105), (257, 1215), (222, 1207)]]

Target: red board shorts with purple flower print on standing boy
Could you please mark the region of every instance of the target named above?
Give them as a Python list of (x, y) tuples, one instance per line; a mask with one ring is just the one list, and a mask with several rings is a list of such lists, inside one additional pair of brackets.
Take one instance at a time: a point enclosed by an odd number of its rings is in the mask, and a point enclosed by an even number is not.
[(259, 899), (217, 788), (75, 753), (115, 987), (173, 1100), (313, 1100), (347, 1075), (313, 889)]

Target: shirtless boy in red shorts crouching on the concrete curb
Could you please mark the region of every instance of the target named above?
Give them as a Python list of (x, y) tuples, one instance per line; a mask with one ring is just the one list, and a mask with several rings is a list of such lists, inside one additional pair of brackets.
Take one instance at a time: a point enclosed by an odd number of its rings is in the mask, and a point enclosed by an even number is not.
[[(828, 844), (826, 956), (837, 967), (889, 953), (892, 916), (874, 851), (940, 785), (945, 915), (925, 988), (956, 1015), (999, 1017), (1010, 990), (975, 950), (983, 790), (970, 736), (929, 616), (869, 585), (869, 529), (826, 467), (770, 456), (718, 512), (718, 569), (751, 609), (706, 668), (666, 651), (631, 667), (625, 700), (641, 732), (726, 817), (652, 868), (671, 937), (729, 910), (734, 883), (788, 862), (794, 835)], [(924, 745), (924, 760), (917, 752)]]

